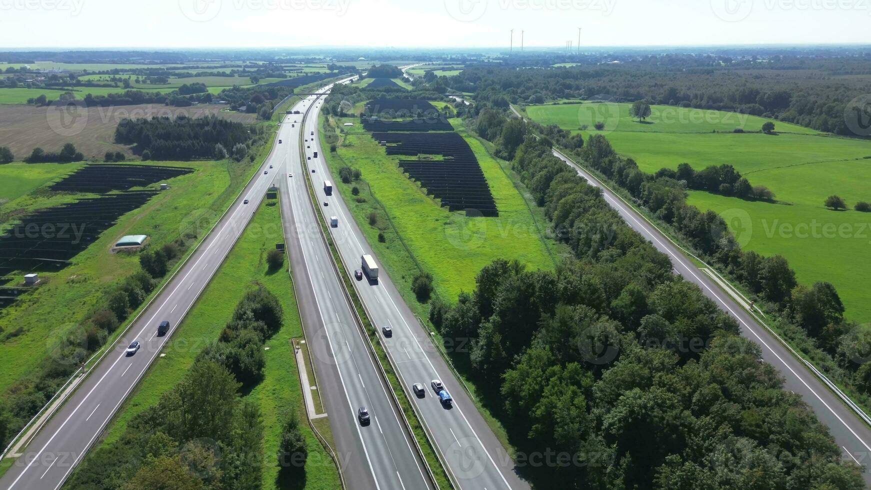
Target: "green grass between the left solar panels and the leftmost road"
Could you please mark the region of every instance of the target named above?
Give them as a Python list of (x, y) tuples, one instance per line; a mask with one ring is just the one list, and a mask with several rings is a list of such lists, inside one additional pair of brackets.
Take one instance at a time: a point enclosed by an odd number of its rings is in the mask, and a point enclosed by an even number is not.
[[(162, 191), (138, 210), (128, 212), (103, 233), (84, 252), (72, 258), (72, 264), (58, 271), (40, 272), (44, 284), (0, 310), (0, 325), (20, 328), (16, 336), (0, 337), (0, 393), (18, 379), (37, 368), (51, 355), (57, 339), (65, 332), (81, 328), (91, 307), (105, 295), (118, 279), (138, 269), (138, 254), (111, 253), (111, 246), (124, 235), (145, 234), (152, 245), (163, 245), (185, 232), (199, 238), (219, 218), (226, 205), (251, 177), (252, 164), (231, 161), (160, 162), (159, 164), (192, 167), (194, 172), (168, 181), (170, 189)], [(43, 164), (15, 165), (26, 170)], [(0, 165), (0, 169), (13, 168)], [(74, 165), (69, 169), (73, 170)], [(152, 186), (156, 187), (156, 186)], [(54, 194), (54, 193), (52, 193)], [(70, 200), (68, 194), (47, 198), (44, 186), (10, 200), (3, 209), (35, 209)], [(2, 232), (3, 225), (0, 225)], [(15, 282), (23, 278), (17, 277)], [(8, 331), (14, 329), (7, 329)]]

